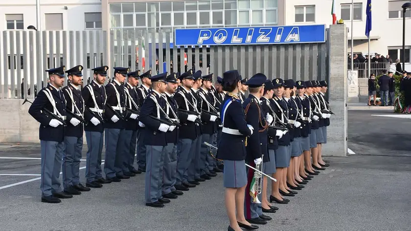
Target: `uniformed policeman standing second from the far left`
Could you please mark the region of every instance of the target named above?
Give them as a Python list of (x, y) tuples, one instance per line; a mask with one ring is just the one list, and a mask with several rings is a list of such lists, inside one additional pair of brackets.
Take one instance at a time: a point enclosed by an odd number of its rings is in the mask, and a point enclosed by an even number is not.
[[(63, 88), (66, 98), (67, 127), (66, 127), (66, 153), (63, 154), (63, 187), (64, 191), (73, 195), (80, 195), (80, 191), (90, 191), (89, 187), (80, 184), (80, 159), (83, 150), (82, 121), (84, 115), (84, 100), (79, 86), (83, 80), (81, 71), (83, 66), (78, 65), (66, 71), (70, 83)], [(81, 119), (81, 120), (80, 120)]]

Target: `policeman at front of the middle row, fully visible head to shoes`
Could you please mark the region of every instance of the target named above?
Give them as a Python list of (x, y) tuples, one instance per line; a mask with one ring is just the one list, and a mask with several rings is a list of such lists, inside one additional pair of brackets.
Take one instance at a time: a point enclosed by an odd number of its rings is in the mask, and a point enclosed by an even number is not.
[[(140, 121), (144, 124), (144, 144), (147, 150), (147, 168), (145, 175), (146, 206), (162, 208), (170, 200), (161, 195), (164, 155), (166, 152), (167, 131), (174, 131), (176, 126), (164, 123), (166, 103), (161, 93), (167, 88), (167, 72), (151, 77), (153, 90), (144, 100), (140, 111)], [(162, 120), (162, 121), (160, 121)]]

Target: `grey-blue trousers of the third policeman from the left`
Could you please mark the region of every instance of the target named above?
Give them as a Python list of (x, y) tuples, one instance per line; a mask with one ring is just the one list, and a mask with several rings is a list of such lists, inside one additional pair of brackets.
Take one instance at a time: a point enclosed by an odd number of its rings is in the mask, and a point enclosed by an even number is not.
[(88, 183), (102, 178), (101, 175), (101, 152), (103, 151), (104, 133), (86, 131), (87, 159), (86, 159), (86, 181)]

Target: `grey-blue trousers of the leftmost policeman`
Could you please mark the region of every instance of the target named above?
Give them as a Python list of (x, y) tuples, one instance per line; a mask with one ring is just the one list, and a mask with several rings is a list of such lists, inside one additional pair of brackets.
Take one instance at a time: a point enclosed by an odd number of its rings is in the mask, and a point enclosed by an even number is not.
[(60, 170), (66, 144), (63, 142), (40, 140), (42, 155), (42, 172), (40, 190), (42, 196), (51, 196), (62, 191), (60, 187)]

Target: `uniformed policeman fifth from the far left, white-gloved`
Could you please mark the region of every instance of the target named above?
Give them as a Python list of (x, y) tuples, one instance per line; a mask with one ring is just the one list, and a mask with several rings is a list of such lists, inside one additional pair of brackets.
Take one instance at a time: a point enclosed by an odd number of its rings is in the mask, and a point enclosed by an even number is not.
[(125, 176), (133, 177), (140, 174), (141, 171), (134, 167), (134, 157), (136, 154), (137, 145), (137, 127), (138, 127), (138, 111), (139, 100), (137, 96), (136, 87), (140, 70), (127, 73), (127, 83), (124, 84), (124, 92), (126, 93), (125, 105), (125, 130), (124, 130), (124, 159), (122, 164), (123, 174)]

